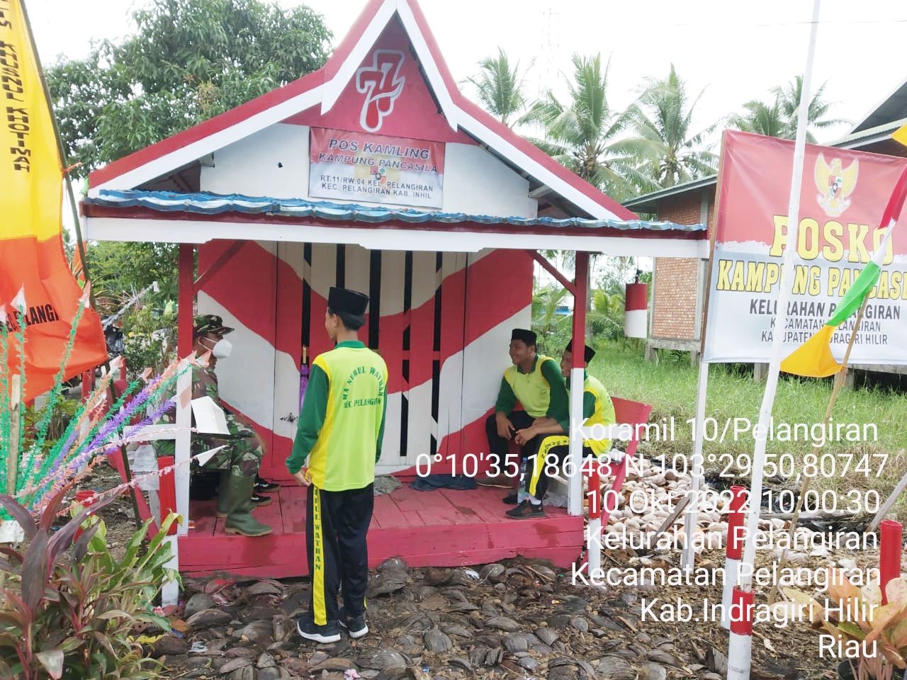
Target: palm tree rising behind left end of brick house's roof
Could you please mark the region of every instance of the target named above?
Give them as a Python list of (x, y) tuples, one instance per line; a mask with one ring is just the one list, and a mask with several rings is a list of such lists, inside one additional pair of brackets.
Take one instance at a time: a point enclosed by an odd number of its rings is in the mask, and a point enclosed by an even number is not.
[(714, 126), (696, 134), (690, 131), (702, 92), (688, 102), (685, 83), (673, 63), (667, 78), (647, 78), (646, 83), (627, 110), (635, 136), (621, 141), (617, 148), (639, 158), (639, 170), (661, 188), (715, 172), (717, 156), (703, 141)]

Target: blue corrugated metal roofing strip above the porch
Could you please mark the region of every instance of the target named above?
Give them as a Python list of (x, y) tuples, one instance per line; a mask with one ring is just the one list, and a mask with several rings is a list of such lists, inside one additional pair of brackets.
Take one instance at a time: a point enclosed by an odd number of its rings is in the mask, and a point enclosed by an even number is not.
[(673, 222), (648, 220), (583, 219), (583, 218), (516, 218), (490, 215), (467, 215), (429, 210), (363, 206), (353, 203), (330, 203), (304, 199), (273, 199), (267, 196), (220, 195), (210, 193), (183, 194), (172, 191), (141, 191), (138, 189), (102, 189), (95, 198), (87, 198), (89, 205), (112, 208), (145, 208), (160, 212), (188, 212), (217, 215), (224, 212), (280, 215), (294, 218), (327, 219), (371, 224), (401, 221), (410, 224), (434, 222), (439, 224), (507, 225), (510, 227), (549, 228), (613, 228), (626, 231), (705, 231), (702, 224), (679, 225)]

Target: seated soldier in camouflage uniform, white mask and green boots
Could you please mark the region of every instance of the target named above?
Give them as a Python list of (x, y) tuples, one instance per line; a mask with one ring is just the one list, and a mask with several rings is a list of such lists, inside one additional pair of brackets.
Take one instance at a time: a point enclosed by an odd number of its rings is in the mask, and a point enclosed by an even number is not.
[[(192, 367), (192, 399), (210, 396), (214, 403), (223, 408), (218, 392), (218, 376), (214, 366), (218, 357), (229, 354), (229, 343), (224, 335), (233, 329), (223, 325), (220, 316), (207, 314), (196, 316), (192, 338), (196, 355), (211, 353), (207, 368)], [(218, 446), (225, 446), (208, 461), (202, 469), (220, 471), (220, 491), (218, 497), (218, 517), (226, 518), (224, 523), (228, 533), (244, 536), (264, 536), (271, 528), (252, 517), (253, 507), (268, 505), (271, 499), (255, 493), (255, 481), (261, 459), (264, 456), (264, 442), (245, 423), (229, 410), (223, 409), (227, 419), (229, 436), (217, 434), (196, 434), (192, 437), (191, 455), (197, 455)], [(174, 423), (176, 409), (165, 413), (161, 423)], [(158, 455), (173, 455), (173, 440), (155, 442)], [(193, 463), (194, 464), (194, 463)]]

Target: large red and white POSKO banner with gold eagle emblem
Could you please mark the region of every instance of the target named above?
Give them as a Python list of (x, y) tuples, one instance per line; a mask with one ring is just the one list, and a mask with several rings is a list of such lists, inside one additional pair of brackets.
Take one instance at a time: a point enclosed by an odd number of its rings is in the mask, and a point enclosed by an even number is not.
[[(835, 306), (882, 243), (879, 220), (902, 158), (807, 144), (793, 296), (784, 328), (775, 325), (787, 247), (794, 142), (725, 132), (711, 277), (707, 362), (767, 362), (783, 334), (789, 354), (832, 316)], [(870, 293), (852, 364), (907, 364), (907, 228), (892, 235), (882, 276)], [(787, 277), (788, 286), (792, 285)], [(854, 316), (834, 333), (840, 360)]]

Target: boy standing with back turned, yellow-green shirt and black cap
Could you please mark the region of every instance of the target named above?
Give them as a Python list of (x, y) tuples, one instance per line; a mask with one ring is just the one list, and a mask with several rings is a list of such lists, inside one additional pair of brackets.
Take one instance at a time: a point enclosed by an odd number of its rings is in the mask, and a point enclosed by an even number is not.
[[(366, 532), (375, 504), (375, 463), (385, 431), (387, 365), (359, 341), (368, 296), (332, 287), (325, 330), (336, 342), (318, 355), (308, 377), (287, 468), (308, 488), (306, 548), (312, 579), (300, 636), (336, 642), (338, 626), (366, 635)], [(302, 467), (308, 458), (308, 468)], [(337, 608), (337, 590), (344, 607)]]

